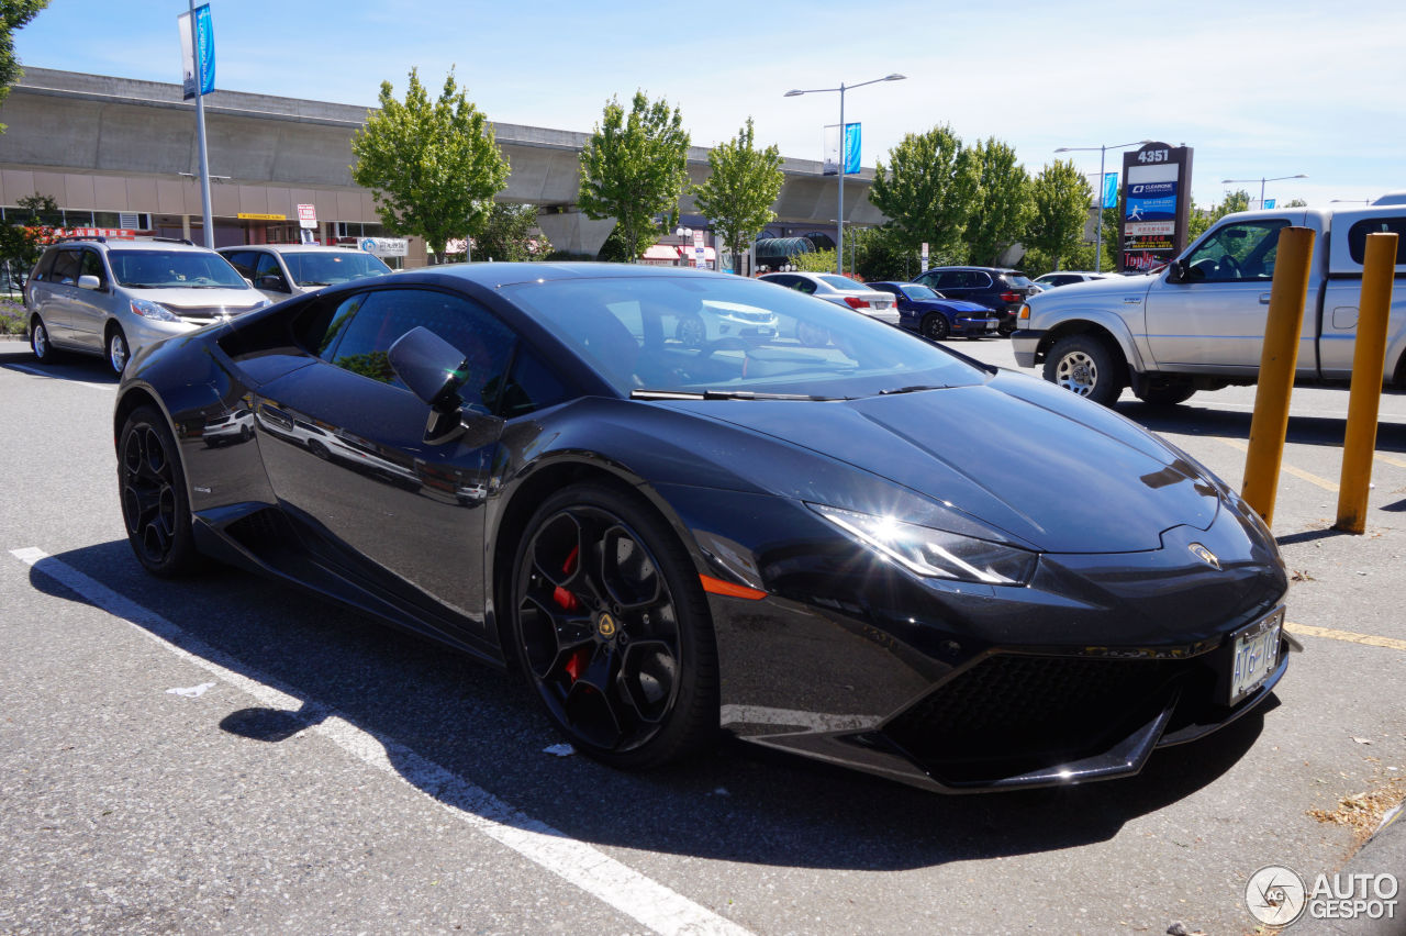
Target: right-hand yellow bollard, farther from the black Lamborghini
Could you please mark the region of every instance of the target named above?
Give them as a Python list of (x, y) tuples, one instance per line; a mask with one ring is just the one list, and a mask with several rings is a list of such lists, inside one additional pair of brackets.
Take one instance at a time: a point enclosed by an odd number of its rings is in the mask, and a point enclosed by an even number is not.
[(1362, 298), (1357, 311), (1357, 346), (1353, 349), (1353, 391), (1347, 401), (1343, 437), (1343, 478), (1337, 488), (1334, 530), (1361, 534), (1367, 528), (1367, 490), (1372, 482), (1376, 448), (1376, 412), (1382, 402), (1386, 368), (1386, 319), (1392, 311), (1396, 277), (1396, 235), (1367, 235), (1362, 257)]

